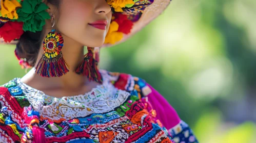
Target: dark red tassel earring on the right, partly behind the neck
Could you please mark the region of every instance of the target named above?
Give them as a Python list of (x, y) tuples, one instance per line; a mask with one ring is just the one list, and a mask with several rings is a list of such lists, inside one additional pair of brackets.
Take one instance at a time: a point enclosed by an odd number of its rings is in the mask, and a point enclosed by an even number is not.
[(93, 48), (87, 47), (87, 50), (88, 53), (85, 55), (81, 64), (76, 68), (75, 73), (87, 76), (89, 81), (102, 83), (102, 76), (97, 67), (98, 61), (96, 61), (95, 56), (93, 56)]

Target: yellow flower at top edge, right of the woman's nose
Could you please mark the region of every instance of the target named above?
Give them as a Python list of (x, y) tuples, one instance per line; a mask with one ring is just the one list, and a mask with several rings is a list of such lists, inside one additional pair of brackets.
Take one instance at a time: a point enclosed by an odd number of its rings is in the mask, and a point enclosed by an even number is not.
[(123, 12), (125, 5), (134, 5), (132, 0), (107, 0), (107, 3), (115, 9), (116, 12)]

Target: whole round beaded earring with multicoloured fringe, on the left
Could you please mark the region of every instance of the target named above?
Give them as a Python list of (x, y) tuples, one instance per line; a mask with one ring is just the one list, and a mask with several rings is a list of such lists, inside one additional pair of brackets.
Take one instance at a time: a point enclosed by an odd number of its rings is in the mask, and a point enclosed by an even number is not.
[[(54, 26), (55, 20), (52, 15), (51, 19)], [(60, 33), (56, 33), (55, 29), (47, 34), (43, 42), (43, 57), (40, 59), (35, 68), (37, 74), (42, 77), (61, 77), (67, 74), (69, 71), (69, 65), (64, 60), (61, 52), (63, 43), (64, 40), (62, 35)]]

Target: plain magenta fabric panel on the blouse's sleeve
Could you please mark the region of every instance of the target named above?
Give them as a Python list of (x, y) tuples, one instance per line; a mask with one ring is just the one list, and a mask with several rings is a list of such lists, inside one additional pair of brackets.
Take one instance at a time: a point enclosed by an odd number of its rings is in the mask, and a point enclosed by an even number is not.
[(161, 121), (164, 127), (170, 128), (178, 125), (181, 119), (175, 109), (168, 103), (168, 101), (157, 92), (152, 86), (147, 83), (152, 92), (148, 94), (148, 101), (156, 111), (156, 118)]

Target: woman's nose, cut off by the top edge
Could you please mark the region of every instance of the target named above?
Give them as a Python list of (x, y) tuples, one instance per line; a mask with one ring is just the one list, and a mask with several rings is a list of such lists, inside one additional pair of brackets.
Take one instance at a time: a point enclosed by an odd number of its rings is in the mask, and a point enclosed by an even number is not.
[(94, 0), (94, 1), (97, 2), (97, 5), (95, 7), (96, 14), (107, 14), (111, 11), (111, 8), (106, 2), (106, 0)]

